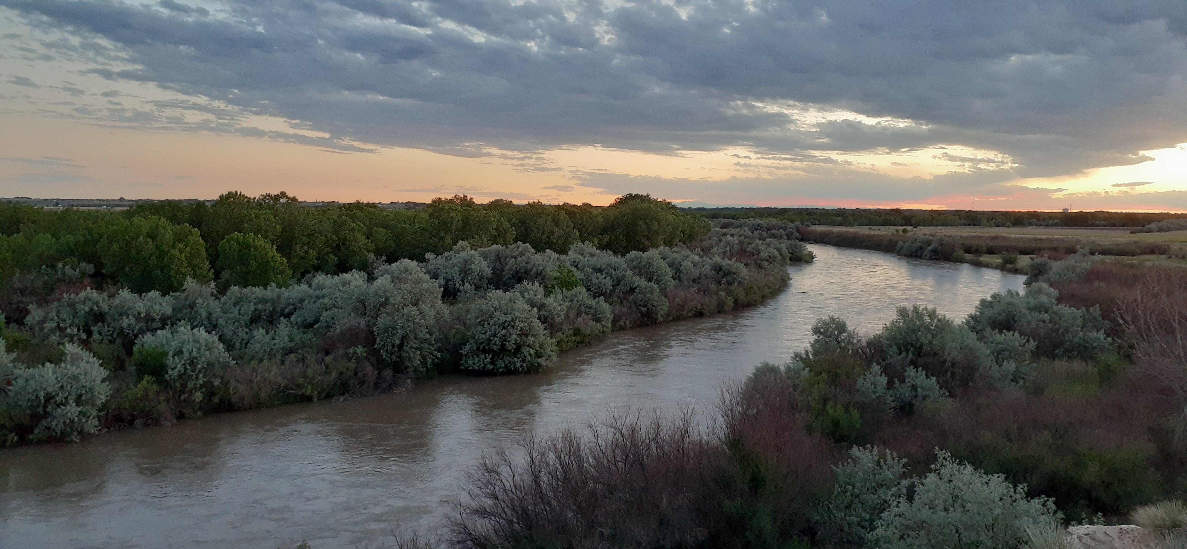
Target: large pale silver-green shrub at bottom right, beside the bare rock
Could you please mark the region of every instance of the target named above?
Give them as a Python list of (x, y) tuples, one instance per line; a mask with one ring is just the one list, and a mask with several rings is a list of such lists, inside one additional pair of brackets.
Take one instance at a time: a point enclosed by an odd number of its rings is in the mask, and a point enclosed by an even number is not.
[(1028, 498), (1001, 474), (985, 474), (938, 452), (932, 472), (900, 496), (870, 539), (881, 549), (1016, 549), (1028, 525), (1058, 517), (1049, 498)]

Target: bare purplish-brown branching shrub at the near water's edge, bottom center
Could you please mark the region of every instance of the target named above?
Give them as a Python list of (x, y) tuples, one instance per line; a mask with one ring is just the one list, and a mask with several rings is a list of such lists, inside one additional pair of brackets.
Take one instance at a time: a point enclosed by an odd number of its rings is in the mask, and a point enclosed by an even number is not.
[(463, 547), (679, 547), (705, 536), (721, 452), (691, 411), (618, 411), (585, 429), (529, 435), (470, 473), (451, 530)]

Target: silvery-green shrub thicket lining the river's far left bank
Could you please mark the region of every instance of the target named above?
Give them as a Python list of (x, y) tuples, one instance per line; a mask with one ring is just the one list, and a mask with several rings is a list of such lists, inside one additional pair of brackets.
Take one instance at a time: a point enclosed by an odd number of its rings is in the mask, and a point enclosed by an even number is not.
[(266, 241), (233, 232), (221, 257), (252, 261), (172, 292), (96, 289), (89, 265), (59, 264), (43, 270), (55, 280), (39, 286), (47, 294), (6, 330), (19, 354), (4, 354), (0, 434), (8, 443), (74, 438), (103, 421), (368, 393), (417, 374), (535, 372), (615, 328), (775, 295), (789, 263), (812, 259), (796, 238), (788, 223), (749, 220), (626, 254), (588, 242), (561, 254), (463, 240), (423, 263), (372, 257), (366, 270), (278, 284), (283, 258), (254, 254)]

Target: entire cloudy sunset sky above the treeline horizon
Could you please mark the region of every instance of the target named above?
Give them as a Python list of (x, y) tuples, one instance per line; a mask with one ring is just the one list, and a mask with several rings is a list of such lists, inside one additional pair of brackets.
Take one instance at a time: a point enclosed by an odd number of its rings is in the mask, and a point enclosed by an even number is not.
[(1187, 209), (1182, 0), (0, 0), (0, 195)]

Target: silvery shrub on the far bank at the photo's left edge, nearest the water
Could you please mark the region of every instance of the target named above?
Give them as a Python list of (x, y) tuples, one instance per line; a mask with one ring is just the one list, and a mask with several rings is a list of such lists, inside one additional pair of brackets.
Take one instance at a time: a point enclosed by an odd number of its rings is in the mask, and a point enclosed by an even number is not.
[(4, 406), (36, 422), (33, 436), (78, 440), (99, 430), (99, 411), (110, 395), (107, 370), (74, 343), (63, 347), (62, 362), (23, 367), (0, 340), (0, 391)]

